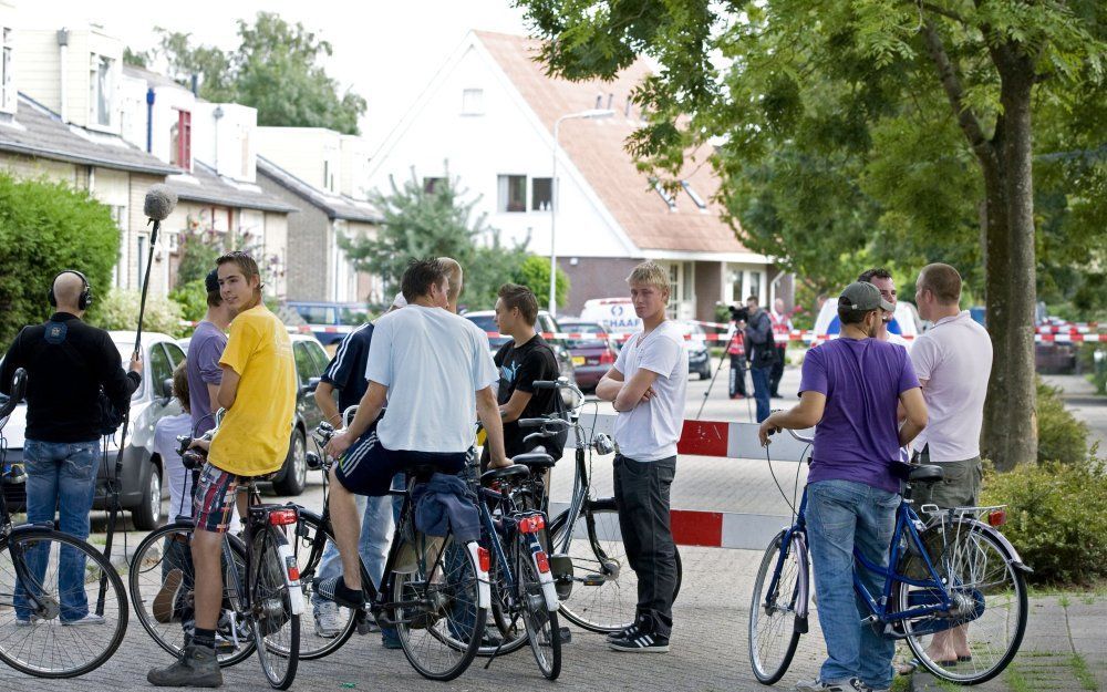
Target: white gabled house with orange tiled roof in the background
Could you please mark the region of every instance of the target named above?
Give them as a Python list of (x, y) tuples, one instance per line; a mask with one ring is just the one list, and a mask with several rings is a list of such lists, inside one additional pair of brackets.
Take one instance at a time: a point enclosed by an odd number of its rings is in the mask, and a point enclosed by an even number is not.
[[(390, 178), (414, 175), (431, 186), (457, 177), (479, 199), (475, 211), (505, 238), (529, 238), (529, 250), (548, 257), (552, 236), (571, 283), (565, 312), (625, 295), (625, 277), (644, 259), (669, 268), (674, 317), (710, 320), (718, 302), (748, 295), (790, 302), (787, 276), (743, 247), (712, 202), (718, 180), (706, 152), (689, 163), (676, 195), (627, 153), (627, 137), (641, 125), (630, 94), (649, 74), (644, 60), (612, 82), (573, 83), (547, 76), (537, 50), (524, 37), (469, 32), (374, 154), (370, 185), (387, 190)], [(608, 116), (565, 117), (596, 110)]]

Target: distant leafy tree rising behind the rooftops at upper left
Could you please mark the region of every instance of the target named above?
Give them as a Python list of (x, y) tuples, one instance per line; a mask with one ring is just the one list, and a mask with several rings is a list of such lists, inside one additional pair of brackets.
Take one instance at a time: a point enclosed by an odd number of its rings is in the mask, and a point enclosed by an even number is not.
[(331, 55), (331, 44), (302, 23), (290, 24), (276, 12), (258, 12), (252, 24), (238, 20), (240, 43), (234, 51), (194, 45), (188, 33), (157, 31), (162, 40), (156, 50), (169, 75), (185, 85), (197, 75), (204, 99), (252, 106), (259, 125), (358, 134), (365, 100), (340, 93), (339, 83), (319, 64)]

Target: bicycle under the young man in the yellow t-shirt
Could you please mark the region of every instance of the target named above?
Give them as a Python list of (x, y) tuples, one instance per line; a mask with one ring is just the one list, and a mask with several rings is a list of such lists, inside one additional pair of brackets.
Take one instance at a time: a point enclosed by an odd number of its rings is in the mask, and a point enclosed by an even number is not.
[[(221, 411), (205, 438), (214, 436), (220, 421)], [(188, 448), (192, 438), (177, 440), (185, 468), (201, 467), (206, 455)], [(248, 496), (241, 537), (224, 535), (216, 653), (220, 668), (226, 668), (256, 651), (270, 686), (287, 690), (299, 664), (303, 590), (286, 531), (298, 525), (301, 509), (291, 503), (262, 504), (256, 481), (238, 486)], [(163, 526), (138, 544), (130, 564), (131, 600), (138, 621), (162, 649), (178, 657), (190, 640), (185, 621), (194, 606), (188, 545), (195, 528), (192, 518)]]

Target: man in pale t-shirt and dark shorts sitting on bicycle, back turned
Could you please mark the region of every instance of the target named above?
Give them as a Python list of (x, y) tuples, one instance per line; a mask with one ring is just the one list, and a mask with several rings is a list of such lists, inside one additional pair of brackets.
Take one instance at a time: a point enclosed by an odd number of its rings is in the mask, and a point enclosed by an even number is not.
[[(318, 588), (328, 597), (333, 592), (333, 600), (343, 606), (364, 602), (354, 494), (386, 495), (392, 477), (415, 465), (461, 473), (478, 416), (488, 433), (490, 466), (510, 464), (504, 455), (493, 389), (499, 373), (488, 337), (445, 309), (447, 271), (438, 259), (408, 265), (401, 281), (407, 307), (376, 320), (365, 371), (369, 390), (345, 432), (327, 445), (328, 454), (341, 457), (331, 469), (329, 503), (343, 576)], [(374, 423), (385, 402), (387, 411)]]

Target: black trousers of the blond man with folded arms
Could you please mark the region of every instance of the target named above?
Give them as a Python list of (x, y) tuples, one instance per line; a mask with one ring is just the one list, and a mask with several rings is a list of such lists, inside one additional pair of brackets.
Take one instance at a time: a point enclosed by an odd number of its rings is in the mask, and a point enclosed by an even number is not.
[(615, 454), (614, 495), (627, 561), (638, 576), (638, 614), (669, 637), (676, 590), (676, 544), (669, 519), (669, 489), (676, 457), (635, 462)]

